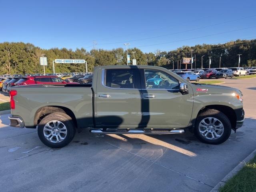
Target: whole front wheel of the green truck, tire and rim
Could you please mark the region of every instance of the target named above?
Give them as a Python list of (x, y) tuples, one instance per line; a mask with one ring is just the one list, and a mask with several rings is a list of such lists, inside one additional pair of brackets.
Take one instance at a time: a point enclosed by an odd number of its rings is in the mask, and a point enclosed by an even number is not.
[(194, 134), (207, 144), (221, 144), (231, 134), (231, 123), (228, 117), (215, 109), (201, 112), (196, 120)]

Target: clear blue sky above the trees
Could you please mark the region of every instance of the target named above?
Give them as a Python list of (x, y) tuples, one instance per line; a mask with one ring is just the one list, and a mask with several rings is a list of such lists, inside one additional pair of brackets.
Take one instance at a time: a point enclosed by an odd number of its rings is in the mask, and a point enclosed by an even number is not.
[(255, 0), (1, 0), (0, 42), (143, 52), (256, 38)]

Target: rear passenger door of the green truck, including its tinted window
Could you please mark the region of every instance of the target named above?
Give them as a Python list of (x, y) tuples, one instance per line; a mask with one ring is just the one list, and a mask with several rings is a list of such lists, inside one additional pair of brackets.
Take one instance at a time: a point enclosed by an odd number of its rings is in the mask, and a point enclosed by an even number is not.
[(96, 126), (137, 128), (141, 123), (140, 74), (135, 66), (98, 71)]

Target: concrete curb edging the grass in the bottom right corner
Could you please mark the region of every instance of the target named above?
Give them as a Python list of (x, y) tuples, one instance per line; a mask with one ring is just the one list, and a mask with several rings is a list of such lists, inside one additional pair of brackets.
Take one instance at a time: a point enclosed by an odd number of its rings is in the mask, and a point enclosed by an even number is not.
[(239, 162), (239, 164), (232, 170), (230, 171), (210, 192), (218, 192), (219, 188), (221, 186), (224, 186), (225, 183), (232, 178), (235, 174), (237, 174), (238, 171), (240, 171), (246, 163), (248, 163), (254, 156), (256, 155), (256, 149), (248, 155), (242, 162)]

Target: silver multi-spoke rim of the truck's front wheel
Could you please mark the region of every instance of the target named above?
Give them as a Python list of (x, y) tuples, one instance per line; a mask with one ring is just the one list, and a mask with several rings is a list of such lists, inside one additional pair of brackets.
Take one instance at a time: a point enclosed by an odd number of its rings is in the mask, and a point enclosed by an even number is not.
[(200, 134), (210, 140), (220, 138), (224, 133), (224, 126), (220, 120), (214, 117), (207, 117), (200, 121), (198, 126)]

